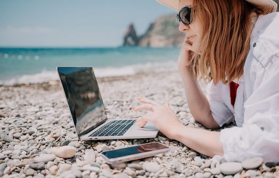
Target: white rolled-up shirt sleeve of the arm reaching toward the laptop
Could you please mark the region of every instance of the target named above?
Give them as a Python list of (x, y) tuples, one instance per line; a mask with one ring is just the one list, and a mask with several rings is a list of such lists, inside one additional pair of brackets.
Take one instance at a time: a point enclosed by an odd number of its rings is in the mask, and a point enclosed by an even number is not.
[(279, 53), (269, 63), (254, 65), (253, 93), (244, 103), (242, 127), (223, 129), (220, 143), (227, 161), (262, 157), (279, 162)]

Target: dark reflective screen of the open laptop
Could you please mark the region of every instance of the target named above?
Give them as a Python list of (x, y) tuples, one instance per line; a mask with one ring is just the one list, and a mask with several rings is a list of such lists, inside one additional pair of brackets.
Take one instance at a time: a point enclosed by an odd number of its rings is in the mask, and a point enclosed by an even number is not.
[(96, 77), (91, 67), (57, 68), (77, 135), (98, 127), (107, 119)]

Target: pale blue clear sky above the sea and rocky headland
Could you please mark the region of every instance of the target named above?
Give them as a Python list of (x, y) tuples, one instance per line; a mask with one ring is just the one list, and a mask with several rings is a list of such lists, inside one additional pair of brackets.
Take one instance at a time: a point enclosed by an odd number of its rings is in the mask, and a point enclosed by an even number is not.
[(116, 47), (175, 11), (155, 0), (0, 0), (0, 47)]

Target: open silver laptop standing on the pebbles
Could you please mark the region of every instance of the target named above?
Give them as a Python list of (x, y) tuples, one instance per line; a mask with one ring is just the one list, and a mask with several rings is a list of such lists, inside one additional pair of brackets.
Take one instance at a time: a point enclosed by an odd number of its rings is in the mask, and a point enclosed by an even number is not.
[(133, 118), (107, 118), (92, 67), (57, 67), (80, 140), (154, 138), (150, 122), (140, 128)]

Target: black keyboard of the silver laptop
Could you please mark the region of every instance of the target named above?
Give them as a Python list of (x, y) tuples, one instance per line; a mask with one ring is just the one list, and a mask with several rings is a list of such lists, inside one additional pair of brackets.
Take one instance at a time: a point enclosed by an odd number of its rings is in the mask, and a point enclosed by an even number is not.
[(90, 136), (121, 136), (134, 124), (135, 120), (115, 120), (107, 123)]

